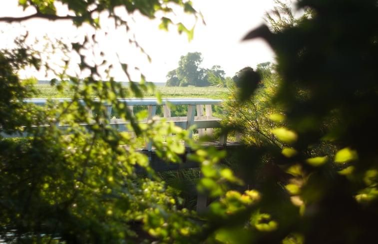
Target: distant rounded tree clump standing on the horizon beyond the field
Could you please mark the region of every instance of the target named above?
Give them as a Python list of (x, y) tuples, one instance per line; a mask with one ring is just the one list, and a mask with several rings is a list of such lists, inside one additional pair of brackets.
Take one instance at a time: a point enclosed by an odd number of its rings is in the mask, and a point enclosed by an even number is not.
[(166, 86), (209, 86), (210, 74), (219, 75), (224, 79), (225, 72), (219, 65), (204, 69), (200, 67), (202, 61), (200, 52), (188, 52), (181, 56), (178, 67), (168, 72)]

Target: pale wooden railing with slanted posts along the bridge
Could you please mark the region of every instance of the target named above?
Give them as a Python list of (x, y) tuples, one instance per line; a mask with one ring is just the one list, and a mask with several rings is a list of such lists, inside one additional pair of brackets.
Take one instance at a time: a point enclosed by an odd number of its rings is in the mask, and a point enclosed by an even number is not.
[[(25, 99), (24, 101), (26, 103), (33, 103), (36, 105), (44, 106), (49, 100), (56, 102), (70, 101), (70, 99), (67, 98), (33, 98)], [(119, 98), (118, 101), (124, 102), (126, 105), (126, 109), (128, 109), (131, 113), (134, 112), (134, 106), (147, 106), (148, 117), (147, 119), (145, 119), (144, 121), (140, 121), (139, 123), (147, 123), (148, 121), (153, 119), (154, 116), (156, 116), (156, 107), (163, 106), (162, 118), (165, 118), (167, 121), (172, 121), (176, 126), (188, 130), (190, 138), (192, 138), (193, 135), (193, 130), (191, 129), (193, 125), (195, 125), (195, 128), (198, 130), (198, 134), (200, 137), (204, 135), (212, 136), (213, 128), (220, 127), (221, 118), (213, 116), (212, 106), (221, 105), (223, 100), (207, 98), (163, 98), (161, 99), (161, 102), (159, 102), (156, 98)], [(188, 106), (186, 116), (171, 116), (170, 106), (177, 105)], [(113, 104), (104, 103), (103, 106), (105, 106), (107, 109), (107, 116), (110, 121), (110, 126), (115, 128), (118, 132), (127, 132), (129, 124), (128, 121), (125, 121), (123, 119), (112, 118)], [(89, 111), (88, 115), (93, 116), (92, 111)], [(59, 126), (64, 127), (65, 125)], [(82, 124), (82, 126), (88, 126), (88, 124)], [(3, 137), (30, 136), (25, 134), (9, 135), (4, 133), (1, 133), (1, 135)], [(225, 145), (226, 142), (227, 136), (221, 136), (219, 144)], [(149, 151), (152, 150), (152, 145), (150, 142), (146, 143), (145, 149)]]

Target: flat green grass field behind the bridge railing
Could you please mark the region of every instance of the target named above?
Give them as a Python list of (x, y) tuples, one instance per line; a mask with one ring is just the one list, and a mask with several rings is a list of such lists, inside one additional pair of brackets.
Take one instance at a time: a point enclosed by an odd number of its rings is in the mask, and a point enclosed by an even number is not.
[[(36, 98), (69, 98), (71, 93), (59, 93), (54, 86), (48, 84), (35, 85), (39, 93), (35, 95)], [(158, 86), (156, 90), (160, 92), (161, 97), (201, 97), (211, 99), (227, 99), (229, 90), (223, 87), (166, 87)], [(154, 93), (144, 94), (145, 97), (155, 97)]]

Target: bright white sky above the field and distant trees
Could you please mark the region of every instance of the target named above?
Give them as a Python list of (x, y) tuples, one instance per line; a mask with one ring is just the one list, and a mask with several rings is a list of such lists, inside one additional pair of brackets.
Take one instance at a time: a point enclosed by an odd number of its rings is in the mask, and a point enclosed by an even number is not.
[[(22, 8), (16, 5), (17, 0), (6, 0), (6, 3), (5, 0), (0, 1), (2, 6), (0, 16), (23, 16), (35, 11), (28, 8), (26, 12), (22, 12)], [(179, 35), (174, 26), (166, 32), (159, 30), (159, 21), (151, 21), (138, 14), (134, 16), (135, 23), (130, 24), (132, 31), (139, 44), (151, 56), (151, 63), (140, 51), (133, 46), (130, 47), (123, 29), (114, 30), (104, 24), (104, 30), (97, 31), (96, 35), (99, 40), (98, 48), (103, 49), (107, 57), (114, 62), (115, 69), (111, 76), (117, 81), (127, 80), (117, 66), (120, 60), (131, 65), (129, 72), (134, 81), (140, 80), (140, 72), (133, 68), (135, 66), (140, 68), (147, 81), (165, 82), (167, 72), (178, 66), (180, 56), (195, 51), (202, 53), (202, 67), (211, 68), (213, 65), (220, 65), (227, 76), (233, 76), (245, 66), (256, 67), (258, 63), (274, 60), (272, 50), (262, 40), (241, 42), (242, 37), (249, 30), (264, 22), (264, 14), (273, 8), (273, 0), (192, 0), (192, 2), (194, 8), (202, 12), (206, 25), (201, 20), (197, 21), (194, 39), (191, 42), (188, 42), (185, 34)], [(62, 14), (63, 8), (61, 11)], [(180, 12), (177, 16), (173, 16), (173, 19), (175, 18), (176, 21), (186, 24), (188, 28), (195, 23), (193, 17), (183, 16)], [(0, 24), (0, 47), (9, 45), (14, 36), (25, 29), (29, 31), (31, 37), (41, 39), (48, 34), (49, 38), (61, 36), (70, 41), (83, 32), (93, 33), (93, 30), (87, 27), (77, 30), (68, 21), (34, 19), (25, 21), (21, 25)], [(104, 34), (105, 31), (108, 32), (107, 35)], [(72, 54), (69, 56), (75, 59)], [(88, 62), (90, 56), (88, 53)], [(57, 59), (52, 58), (51, 62), (58, 63), (54, 60)], [(48, 77), (44, 77), (44, 72), (30, 70), (27, 71), (27, 75), (35, 76), (39, 80), (54, 78), (51, 73)]]

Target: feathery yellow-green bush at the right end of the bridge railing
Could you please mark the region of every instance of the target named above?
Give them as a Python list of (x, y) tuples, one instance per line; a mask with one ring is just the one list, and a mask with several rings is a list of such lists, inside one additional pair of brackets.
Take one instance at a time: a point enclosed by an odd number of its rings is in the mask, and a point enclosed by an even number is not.
[[(257, 66), (260, 67), (261, 64)], [(272, 104), (272, 99), (278, 90), (279, 77), (266, 72), (262, 75), (262, 80), (258, 83), (252, 98), (240, 102), (238, 97), (242, 89), (240, 83), (243, 82), (243, 72), (253, 72), (253, 69), (245, 67), (235, 74), (236, 81), (229, 87), (231, 98), (225, 103), (227, 115), (223, 123), (225, 126), (235, 127), (241, 133), (241, 140), (246, 145), (260, 147), (264, 144), (272, 144), (282, 149), (284, 147), (282, 142), (271, 132), (278, 124), (283, 125), (279, 119), (280, 108)], [(259, 69), (257, 72), (260, 72)], [(275, 114), (278, 119), (273, 121), (270, 115)]]

